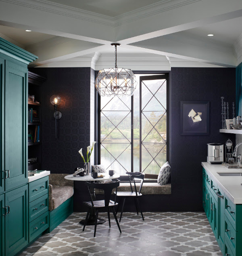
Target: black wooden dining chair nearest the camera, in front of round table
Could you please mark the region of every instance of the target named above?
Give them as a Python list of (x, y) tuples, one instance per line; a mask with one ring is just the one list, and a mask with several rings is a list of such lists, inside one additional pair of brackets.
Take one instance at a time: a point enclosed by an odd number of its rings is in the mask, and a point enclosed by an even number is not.
[[(82, 231), (85, 230), (85, 227), (86, 227), (86, 224), (87, 224), (87, 221), (88, 221), (88, 216), (90, 214), (91, 209), (96, 210), (94, 237), (96, 235), (97, 221), (98, 221), (98, 211), (100, 209), (105, 209), (106, 208), (107, 213), (108, 213), (109, 227), (111, 227), (111, 223), (110, 223), (110, 208), (111, 208), (112, 211), (113, 211), (113, 216), (114, 216), (114, 218), (116, 220), (116, 223), (117, 223), (117, 226), (119, 228), (119, 231), (120, 231), (120, 233), (122, 233), (121, 229), (119, 227), (119, 222), (117, 220), (115, 210), (114, 210), (114, 206), (118, 205), (116, 203), (116, 194), (115, 194), (115, 201), (110, 200), (113, 189), (116, 188), (116, 193), (117, 193), (117, 187), (119, 187), (119, 182), (120, 182), (120, 180), (118, 180), (118, 179), (113, 180), (110, 183), (89, 183), (89, 182), (86, 182), (86, 185), (88, 186), (88, 191), (90, 193), (91, 201), (83, 202), (83, 204), (86, 204), (88, 206), (88, 212), (87, 212), (86, 220), (85, 220)], [(93, 201), (90, 189), (103, 189), (104, 190), (104, 200)]]

